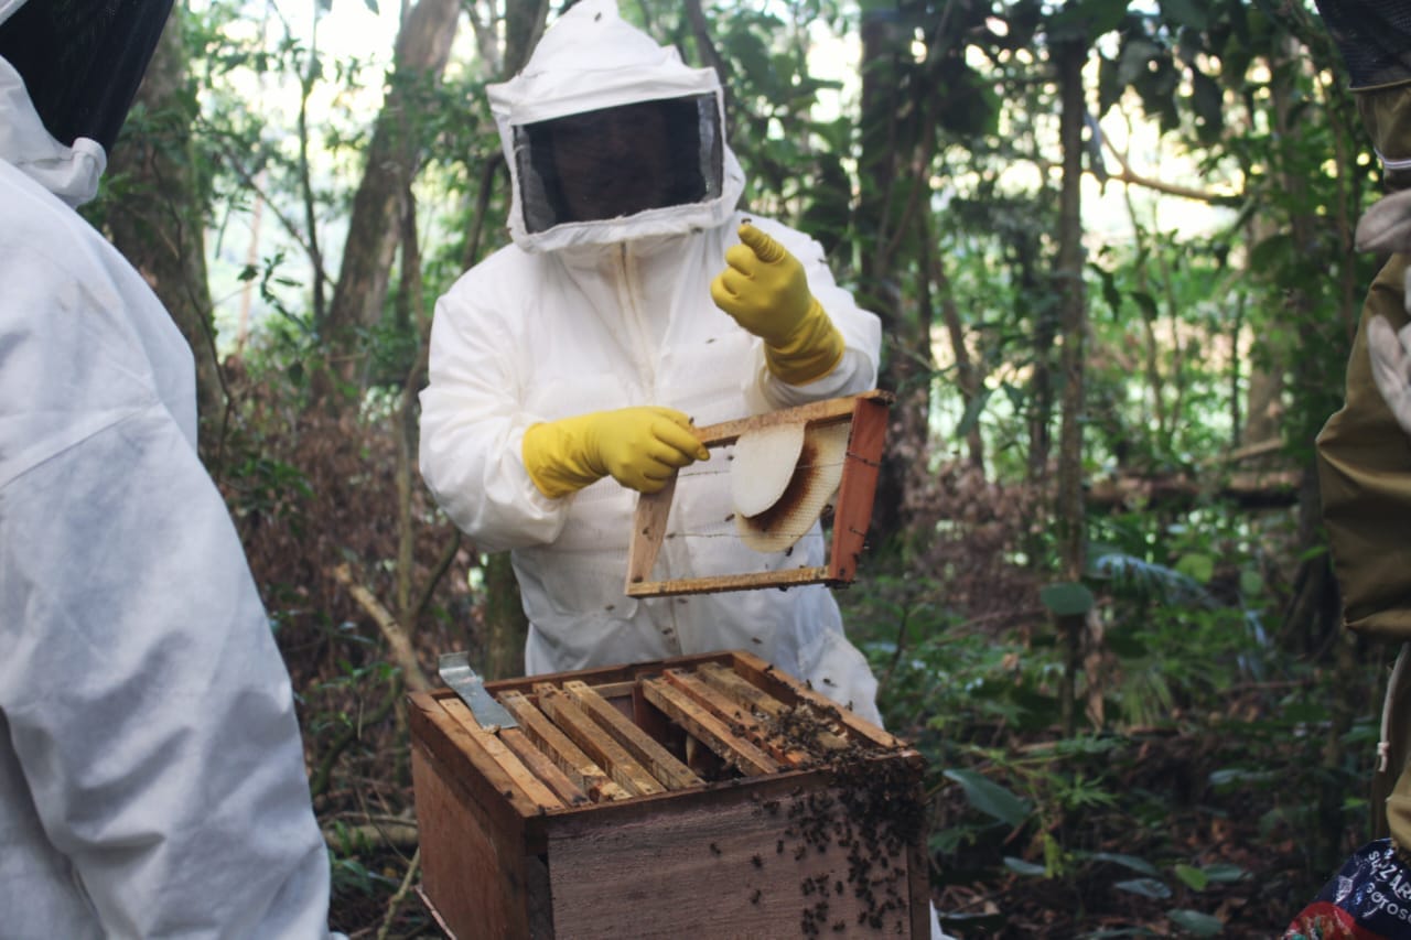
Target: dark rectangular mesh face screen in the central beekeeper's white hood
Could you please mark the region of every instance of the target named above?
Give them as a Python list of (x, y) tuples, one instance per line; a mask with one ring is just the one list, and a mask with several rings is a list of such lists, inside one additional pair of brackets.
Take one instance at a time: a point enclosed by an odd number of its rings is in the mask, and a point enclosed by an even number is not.
[(721, 193), (715, 95), (638, 102), (514, 128), (525, 229), (622, 219)]

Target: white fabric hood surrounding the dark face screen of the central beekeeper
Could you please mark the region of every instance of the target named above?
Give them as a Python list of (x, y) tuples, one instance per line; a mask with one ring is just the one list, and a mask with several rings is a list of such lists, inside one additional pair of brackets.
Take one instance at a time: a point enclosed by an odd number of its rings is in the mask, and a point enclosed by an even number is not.
[(718, 195), (704, 202), (646, 209), (617, 219), (564, 222), (540, 230), (526, 223), (522, 167), (529, 161), (516, 152), (526, 145), (526, 126), (641, 102), (710, 96), (717, 117), (714, 124), (724, 127), (724, 96), (715, 72), (687, 66), (676, 49), (658, 45), (625, 23), (615, 0), (580, 0), (545, 34), (519, 75), (491, 85), (488, 96), (509, 165), (509, 234), (525, 251), (713, 229), (728, 222), (739, 202), (744, 172), (729, 147), (721, 144)]

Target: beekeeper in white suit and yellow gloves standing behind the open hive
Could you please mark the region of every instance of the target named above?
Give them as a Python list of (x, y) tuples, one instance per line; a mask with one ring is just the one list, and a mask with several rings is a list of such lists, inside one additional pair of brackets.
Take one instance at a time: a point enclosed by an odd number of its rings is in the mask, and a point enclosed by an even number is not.
[(584, 0), (490, 102), (514, 244), (436, 305), (420, 467), (487, 550), (511, 549), (525, 666), (746, 649), (879, 720), (876, 680), (821, 586), (624, 594), (638, 491), (682, 470), (662, 579), (821, 565), (816, 528), (759, 555), (728, 524), (728, 460), (690, 422), (871, 390), (880, 326), (821, 247), (744, 216), (711, 69)]

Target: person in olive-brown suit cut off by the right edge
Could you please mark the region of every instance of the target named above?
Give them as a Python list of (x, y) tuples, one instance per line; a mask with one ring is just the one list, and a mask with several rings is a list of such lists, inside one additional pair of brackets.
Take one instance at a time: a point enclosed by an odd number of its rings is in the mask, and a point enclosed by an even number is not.
[[(1349, 90), (1391, 193), (1359, 226), (1360, 247), (1391, 251), (1367, 289), (1348, 360), (1342, 408), (1318, 435), (1318, 486), (1343, 620), (1366, 639), (1411, 652), (1411, 7), (1381, 0), (1318, 0), (1348, 68)], [(1411, 656), (1387, 689), (1371, 782), (1371, 831), (1411, 848)]]

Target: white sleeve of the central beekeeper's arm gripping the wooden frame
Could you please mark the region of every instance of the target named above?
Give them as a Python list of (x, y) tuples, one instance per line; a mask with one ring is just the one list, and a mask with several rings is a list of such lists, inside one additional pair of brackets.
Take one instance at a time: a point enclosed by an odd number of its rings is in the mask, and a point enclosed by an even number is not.
[(525, 470), (525, 430), (540, 418), (525, 411), (511, 367), (522, 343), (488, 315), (490, 279), (473, 270), (436, 302), (419, 462), (452, 521), (498, 552), (557, 539), (573, 497), (550, 500)]

